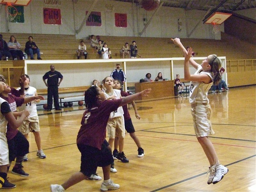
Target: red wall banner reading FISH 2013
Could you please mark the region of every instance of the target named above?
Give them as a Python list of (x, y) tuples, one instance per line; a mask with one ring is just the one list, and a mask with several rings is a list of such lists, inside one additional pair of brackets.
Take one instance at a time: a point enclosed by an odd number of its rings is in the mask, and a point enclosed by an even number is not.
[(44, 24), (61, 25), (60, 9), (43, 8)]

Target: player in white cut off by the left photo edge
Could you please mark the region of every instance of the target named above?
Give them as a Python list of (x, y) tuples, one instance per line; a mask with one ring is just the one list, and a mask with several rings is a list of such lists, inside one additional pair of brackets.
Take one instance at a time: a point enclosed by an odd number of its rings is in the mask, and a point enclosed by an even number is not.
[[(4, 91), (4, 85), (0, 82), (0, 94)], [(8, 102), (0, 97), (0, 189), (15, 188), (16, 185), (7, 180), (7, 170), (9, 166), (9, 149), (6, 138), (7, 124), (12, 129), (17, 129), (24, 119), (29, 115), (27, 110), (21, 112), (20, 118), (15, 119)]]

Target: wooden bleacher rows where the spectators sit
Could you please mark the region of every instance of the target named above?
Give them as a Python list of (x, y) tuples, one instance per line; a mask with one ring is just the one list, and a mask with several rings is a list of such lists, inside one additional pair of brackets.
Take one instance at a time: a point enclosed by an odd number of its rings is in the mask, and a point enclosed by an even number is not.
[[(2, 34), (6, 42), (9, 41), (11, 35), (14, 35), (21, 44), (23, 51), (28, 41), (28, 36), (33, 36), (33, 41), (39, 47), (40, 52), (43, 52), (42, 59), (44, 60), (76, 59), (76, 50), (81, 41), (76, 39), (75, 35)], [(136, 41), (142, 58), (182, 57), (179, 48), (171, 43), (170, 38), (114, 36), (101, 36), (100, 38), (108, 44), (113, 59), (121, 58), (119, 50), (125, 42), (132, 44), (133, 40)], [(237, 47), (228, 45), (226, 41), (214, 39), (181, 39), (181, 41), (184, 46), (193, 48), (194, 52), (196, 52), (196, 57), (204, 57), (215, 53), (220, 56), (226, 56), (227, 60), (254, 59), (254, 55), (237, 50)], [(88, 52), (87, 59), (98, 59), (98, 53), (90, 47), (88, 37), (84, 39), (84, 42)], [(239, 52), (239, 54), (234, 54), (236, 52)]]

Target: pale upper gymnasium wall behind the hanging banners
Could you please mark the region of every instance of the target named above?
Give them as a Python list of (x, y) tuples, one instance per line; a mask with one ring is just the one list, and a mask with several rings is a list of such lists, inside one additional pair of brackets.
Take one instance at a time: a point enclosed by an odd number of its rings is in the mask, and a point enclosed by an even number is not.
[[(32, 0), (28, 6), (24, 7), (25, 23), (7, 22), (5, 6), (1, 4), (0, 32), (74, 35), (84, 20), (85, 11), (88, 11), (93, 3), (92, 0), (78, 0), (76, 3), (71, 0), (65, 0), (60, 1), (60, 4), (46, 4), (46, 2), (47, 0)], [(113, 7), (113, 9), (109, 10), (106, 6)], [(62, 24), (44, 24), (44, 7), (60, 9)], [(113, 0), (98, 0), (92, 11), (101, 12), (102, 26), (95, 27), (84, 24), (82, 30), (76, 34), (76, 39), (84, 39), (91, 34), (101, 36), (139, 36), (144, 25), (154, 13), (154, 11), (145, 11), (140, 5)], [(115, 27), (114, 15), (116, 12), (127, 14), (127, 28)], [(220, 39), (220, 33), (213, 34), (212, 26), (203, 24), (202, 17), (205, 13), (205, 11), (185, 11), (181, 8), (161, 7), (141, 36), (187, 38), (187, 35), (199, 22), (190, 38)], [(180, 32), (178, 31), (178, 19), (181, 22)], [(221, 30), (223, 31), (223, 29)]]

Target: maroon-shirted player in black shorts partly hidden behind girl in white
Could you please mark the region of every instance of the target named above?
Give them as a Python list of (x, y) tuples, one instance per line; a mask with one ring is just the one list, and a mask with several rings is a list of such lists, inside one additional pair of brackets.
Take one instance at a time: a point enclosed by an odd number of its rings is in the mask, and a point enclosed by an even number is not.
[[(114, 89), (121, 90), (121, 84), (122, 84), (122, 82), (120, 80), (114, 80)], [(121, 90), (121, 96), (123, 98), (127, 97), (129, 95), (130, 95), (129, 93), (124, 92), (124, 91)], [(140, 115), (138, 113), (138, 110), (137, 110), (137, 107), (136, 107), (136, 104), (135, 104), (134, 101), (132, 101), (132, 107), (134, 109), (136, 118), (140, 119)], [(135, 134), (135, 129), (134, 129), (133, 124), (132, 124), (132, 118), (129, 114), (127, 105), (123, 105), (123, 110), (124, 110), (124, 127), (125, 127), (125, 130), (130, 134), (131, 138), (134, 140), (134, 142), (136, 143), (136, 145), (138, 147), (138, 157), (143, 157), (144, 156), (144, 149), (141, 148), (140, 140), (137, 137), (137, 135)], [(116, 138), (118, 138), (118, 137), (116, 137)], [(115, 143), (117, 143), (116, 139), (115, 139)], [(117, 147), (115, 147), (115, 148), (117, 148)], [(114, 151), (115, 152), (113, 152), (113, 154), (118, 153), (117, 149), (114, 149)]]

